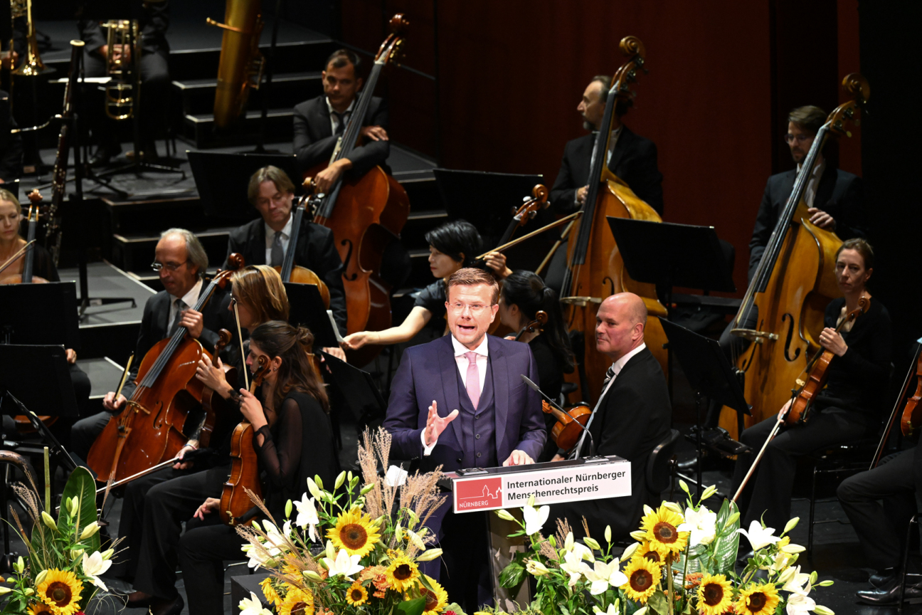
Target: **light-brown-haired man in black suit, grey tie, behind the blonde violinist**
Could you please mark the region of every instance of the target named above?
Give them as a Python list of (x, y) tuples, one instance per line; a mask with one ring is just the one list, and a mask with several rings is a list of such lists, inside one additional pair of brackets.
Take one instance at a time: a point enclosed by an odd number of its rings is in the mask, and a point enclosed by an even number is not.
[[(247, 197), (261, 216), (231, 231), (228, 257), (242, 254), (247, 265), (282, 266), (289, 248), (291, 213), (294, 200), (294, 183), (288, 173), (278, 167), (267, 166), (254, 172), (247, 187)], [(295, 246), (294, 264), (313, 271), (323, 279), (330, 292), (330, 310), (340, 331), (346, 331), (346, 291), (343, 289), (342, 259), (333, 241), (333, 231), (314, 224), (307, 216), (301, 219), (298, 245)], [(226, 266), (226, 263), (225, 263)], [(325, 352), (343, 361), (346, 355), (340, 348), (325, 348)]]

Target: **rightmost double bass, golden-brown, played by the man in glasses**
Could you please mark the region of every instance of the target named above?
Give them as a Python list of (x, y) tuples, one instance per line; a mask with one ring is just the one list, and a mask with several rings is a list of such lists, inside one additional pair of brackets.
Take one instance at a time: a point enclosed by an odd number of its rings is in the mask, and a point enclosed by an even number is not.
[[(743, 392), (752, 403), (745, 420), (750, 427), (780, 408), (787, 400), (787, 387), (802, 373), (811, 351), (820, 348), (826, 305), (840, 292), (835, 282), (835, 253), (842, 240), (810, 222), (804, 200), (810, 174), (818, 163), (822, 147), (833, 135), (848, 135), (845, 122), (857, 120), (861, 105), (868, 100), (867, 80), (857, 73), (843, 79), (852, 100), (829, 114), (813, 138), (801, 163), (794, 188), (772, 231), (749, 288), (733, 321), (731, 333), (751, 341), (745, 352), (734, 356), (744, 378)], [(743, 323), (758, 310), (755, 329)], [(737, 349), (734, 348), (734, 355)], [(739, 438), (736, 410), (721, 410), (720, 426)]]

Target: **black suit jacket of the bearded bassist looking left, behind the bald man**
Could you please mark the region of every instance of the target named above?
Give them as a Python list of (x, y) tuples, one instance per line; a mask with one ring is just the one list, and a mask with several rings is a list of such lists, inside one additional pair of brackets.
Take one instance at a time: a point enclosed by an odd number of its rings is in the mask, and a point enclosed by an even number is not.
[[(576, 209), (576, 190), (589, 183), (589, 163), (596, 134), (568, 141), (563, 148), (561, 170), (550, 189), (550, 204), (557, 213)], [(656, 145), (653, 141), (621, 128), (621, 136), (611, 152), (609, 170), (618, 175), (633, 193), (663, 215), (663, 174), (656, 166)]]

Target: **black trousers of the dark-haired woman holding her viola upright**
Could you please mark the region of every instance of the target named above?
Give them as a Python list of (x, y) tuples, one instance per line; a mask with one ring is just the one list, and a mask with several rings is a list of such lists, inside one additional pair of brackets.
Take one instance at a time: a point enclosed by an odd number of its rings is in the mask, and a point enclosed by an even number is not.
[(185, 527), (178, 552), (189, 612), (223, 615), (224, 561), (246, 559), (241, 550), (245, 541), (233, 527), (223, 525), (218, 514), (205, 521), (193, 519)]

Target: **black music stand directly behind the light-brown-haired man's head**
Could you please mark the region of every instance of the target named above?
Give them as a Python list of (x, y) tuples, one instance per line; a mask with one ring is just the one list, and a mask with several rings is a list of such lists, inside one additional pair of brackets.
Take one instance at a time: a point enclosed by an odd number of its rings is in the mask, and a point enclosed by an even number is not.
[(272, 165), (288, 173), (295, 187), (301, 175), (293, 154), (227, 154), (186, 150), (202, 208), (209, 216), (248, 222), (259, 214), (246, 198), (253, 173)]

